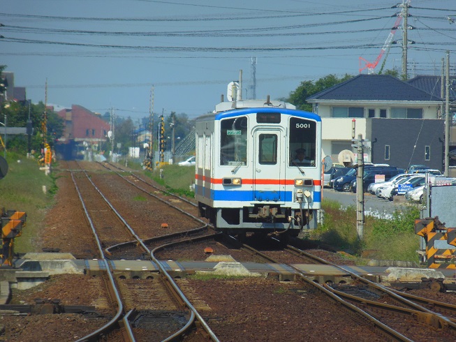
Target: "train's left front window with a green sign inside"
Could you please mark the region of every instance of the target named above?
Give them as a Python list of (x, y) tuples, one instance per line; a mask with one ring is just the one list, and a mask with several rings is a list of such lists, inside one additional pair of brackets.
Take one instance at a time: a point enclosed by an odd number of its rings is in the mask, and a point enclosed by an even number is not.
[(247, 117), (223, 119), (220, 128), (220, 165), (246, 165)]

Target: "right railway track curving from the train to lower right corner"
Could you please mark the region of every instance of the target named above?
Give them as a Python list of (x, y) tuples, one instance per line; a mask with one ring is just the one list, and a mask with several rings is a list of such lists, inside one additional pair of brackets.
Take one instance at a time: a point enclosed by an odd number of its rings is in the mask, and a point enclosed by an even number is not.
[[(344, 306), (353, 304), (360, 308), (363, 311), (362, 315), (365, 315), (365, 318), (389, 338), (399, 339), (399, 341), (416, 341), (422, 336), (439, 339), (439, 341), (456, 339), (455, 305), (390, 290), (354, 274), (346, 267), (335, 265), (294, 246), (288, 245), (284, 251), (293, 256), (297, 255), (307, 262), (332, 265), (346, 272), (351, 278), (350, 281), (344, 280), (338, 284), (328, 281), (322, 286), (314, 281), (314, 284), (319, 290), (326, 289), (337, 295), (337, 300)], [(279, 262), (267, 253), (263, 256), (271, 262)], [(299, 269), (293, 265), (291, 267), (299, 272), (302, 279), (310, 281), (309, 277), (302, 274)], [(449, 315), (450, 318), (444, 314)]]

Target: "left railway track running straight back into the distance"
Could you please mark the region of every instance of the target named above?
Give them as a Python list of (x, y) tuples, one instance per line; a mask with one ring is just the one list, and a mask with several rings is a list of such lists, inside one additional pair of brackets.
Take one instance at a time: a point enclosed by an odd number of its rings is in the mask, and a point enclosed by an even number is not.
[[(161, 267), (159, 260), (154, 258), (152, 251), (138, 237), (135, 229), (128, 225), (125, 218), (101, 193), (89, 174), (82, 171), (75, 175), (71, 165), (68, 166), (84, 207), (86, 220), (94, 233), (98, 254), (107, 269), (105, 273), (109, 278), (108, 291), (117, 299), (112, 305), (113, 308), (117, 307), (115, 317), (108, 324), (79, 341), (101, 339), (119, 330), (126, 337), (126, 341), (150, 341), (152, 336), (156, 341), (167, 341), (189, 334), (189, 329), (194, 327), (196, 320), (199, 322), (198, 326), (205, 329), (212, 341), (218, 341), (204, 320), (200, 318), (198, 311), (179, 290), (172, 277)], [(80, 170), (79, 167), (73, 166), (73, 168)], [(160, 272), (145, 280), (116, 276), (115, 270), (105, 258), (106, 247), (119, 246), (122, 241), (135, 241), (136, 246), (140, 246), (138, 248), (141, 250), (139, 251), (141, 255), (147, 253), (149, 259), (159, 265)], [(120, 318), (124, 318), (123, 327), (119, 327)]]

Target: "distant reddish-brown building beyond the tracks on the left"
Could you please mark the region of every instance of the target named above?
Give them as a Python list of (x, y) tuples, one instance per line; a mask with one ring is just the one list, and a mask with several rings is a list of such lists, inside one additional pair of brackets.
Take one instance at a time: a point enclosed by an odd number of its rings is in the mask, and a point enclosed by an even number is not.
[(87, 158), (108, 139), (110, 124), (94, 112), (80, 105), (57, 112), (64, 119), (64, 134), (59, 137), (56, 151), (60, 158), (74, 160)]

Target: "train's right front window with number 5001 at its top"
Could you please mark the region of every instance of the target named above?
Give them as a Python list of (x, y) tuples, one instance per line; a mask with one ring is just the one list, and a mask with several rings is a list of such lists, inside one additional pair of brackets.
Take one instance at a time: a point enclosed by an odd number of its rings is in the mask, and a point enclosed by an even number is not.
[(290, 118), (288, 143), (290, 166), (314, 167), (316, 165), (316, 122), (298, 117)]

